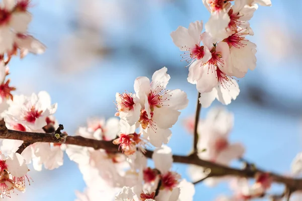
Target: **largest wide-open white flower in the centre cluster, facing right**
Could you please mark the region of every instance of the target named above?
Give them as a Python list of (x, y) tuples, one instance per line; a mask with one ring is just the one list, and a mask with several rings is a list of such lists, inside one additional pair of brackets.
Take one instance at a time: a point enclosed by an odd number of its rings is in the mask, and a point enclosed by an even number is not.
[(151, 83), (147, 77), (138, 77), (134, 82), (134, 90), (143, 106), (139, 118), (143, 135), (157, 147), (169, 142), (169, 128), (177, 122), (178, 110), (188, 105), (184, 91), (166, 89), (169, 80), (167, 68), (163, 67), (153, 74)]

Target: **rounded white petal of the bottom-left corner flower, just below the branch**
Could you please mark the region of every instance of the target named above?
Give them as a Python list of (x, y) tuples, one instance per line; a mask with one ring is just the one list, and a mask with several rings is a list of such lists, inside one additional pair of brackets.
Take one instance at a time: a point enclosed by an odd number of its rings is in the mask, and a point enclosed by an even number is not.
[(26, 161), (20, 154), (12, 153), (8, 157), (6, 164), (12, 176), (22, 177), (28, 172)]

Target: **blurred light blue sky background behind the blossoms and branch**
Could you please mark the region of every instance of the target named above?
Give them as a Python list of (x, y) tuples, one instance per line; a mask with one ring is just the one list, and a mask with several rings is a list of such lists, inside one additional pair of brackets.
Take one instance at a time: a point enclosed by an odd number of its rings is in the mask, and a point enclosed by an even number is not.
[[(272, 4), (260, 7), (250, 21), (255, 32), (250, 40), (258, 46), (257, 68), (240, 79), (241, 93), (227, 108), (235, 115), (231, 141), (245, 145), (245, 158), (287, 174), (292, 159), (302, 151), (302, 28), (297, 26), (302, 2), (272, 0)], [(194, 115), (197, 90), (187, 82), (187, 64), (180, 62), (181, 52), (170, 33), (178, 26), (208, 20), (201, 0), (34, 0), (33, 5), (30, 34), (48, 49), (43, 55), (10, 62), (15, 94), (48, 91), (58, 103), (56, 118), (72, 135), (88, 117), (114, 116), (116, 92), (133, 91), (136, 77), (151, 77), (166, 66), (171, 76), (168, 89), (180, 88), (189, 98), (188, 108), (172, 128), (169, 146), (175, 154), (192, 149), (192, 136), (182, 122)], [(207, 111), (202, 109), (201, 116)], [(173, 169), (189, 179), (185, 165)], [(74, 191), (85, 188), (77, 165), (66, 155), (60, 168), (30, 175), (34, 182), (27, 192), (10, 200), (74, 200)], [(272, 191), (281, 193), (282, 187)], [(201, 183), (194, 200), (230, 193), (228, 183), (215, 188)]]

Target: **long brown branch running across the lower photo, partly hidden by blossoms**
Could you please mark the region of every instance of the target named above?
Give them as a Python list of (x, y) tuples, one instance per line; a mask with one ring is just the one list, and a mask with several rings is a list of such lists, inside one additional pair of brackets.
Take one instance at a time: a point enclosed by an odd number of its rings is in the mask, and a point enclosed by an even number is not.
[[(120, 152), (118, 146), (114, 145), (112, 141), (94, 140), (94, 139), (84, 138), (81, 136), (66, 136), (66, 134), (60, 133), (60, 131), (59, 131), (60, 138), (57, 138), (55, 135), (56, 132), (33, 133), (33, 132), (14, 131), (14, 130), (7, 129), (3, 120), (0, 121), (0, 139), (23, 140), (25, 142), (34, 144), (36, 142), (63, 143), (61, 138), (64, 138), (65, 144), (93, 147), (94, 149), (105, 149), (113, 153)], [(145, 156), (147, 158), (152, 158), (152, 155), (153, 155), (153, 151), (146, 150)], [(267, 171), (263, 171), (256, 167), (238, 169), (238, 168), (232, 168), (232, 167), (216, 164), (210, 161), (201, 160), (196, 155), (189, 155), (189, 156), (173, 155), (173, 161), (176, 163), (198, 165), (205, 168), (209, 168), (211, 170), (210, 176), (212, 177), (230, 175), (230, 176), (254, 178), (256, 173), (267, 173)], [(283, 183), (285, 186), (287, 186), (287, 188), (290, 189), (290, 192), (294, 192), (296, 190), (302, 190), (302, 179), (295, 179), (292, 177), (282, 176), (275, 173), (269, 173), (269, 175), (274, 182)]]

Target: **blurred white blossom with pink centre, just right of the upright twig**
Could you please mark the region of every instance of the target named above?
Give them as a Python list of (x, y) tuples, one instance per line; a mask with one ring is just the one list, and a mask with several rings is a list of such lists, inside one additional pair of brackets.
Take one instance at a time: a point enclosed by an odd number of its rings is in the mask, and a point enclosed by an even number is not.
[[(243, 145), (240, 143), (231, 144), (228, 140), (234, 124), (233, 119), (232, 113), (222, 108), (214, 108), (209, 111), (206, 119), (198, 124), (197, 148), (200, 159), (229, 165), (233, 159), (238, 159), (243, 155)], [(190, 166), (189, 172), (194, 180), (207, 176), (206, 169), (194, 165)], [(217, 181), (215, 177), (211, 177), (206, 179), (205, 183), (212, 186)]]

